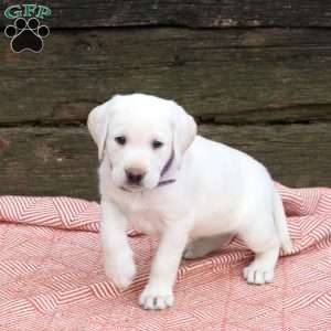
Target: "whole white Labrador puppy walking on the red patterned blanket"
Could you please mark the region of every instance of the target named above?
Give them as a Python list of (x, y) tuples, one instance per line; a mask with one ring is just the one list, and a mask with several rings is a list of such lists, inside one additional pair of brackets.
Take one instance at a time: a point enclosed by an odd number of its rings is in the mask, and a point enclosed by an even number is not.
[(270, 282), (279, 248), (291, 249), (286, 217), (267, 170), (244, 152), (196, 136), (194, 119), (172, 100), (117, 95), (92, 110), (88, 129), (100, 160), (102, 241), (107, 276), (135, 277), (128, 222), (160, 236), (146, 309), (173, 303), (182, 255), (201, 257), (233, 235), (255, 253), (249, 284)]

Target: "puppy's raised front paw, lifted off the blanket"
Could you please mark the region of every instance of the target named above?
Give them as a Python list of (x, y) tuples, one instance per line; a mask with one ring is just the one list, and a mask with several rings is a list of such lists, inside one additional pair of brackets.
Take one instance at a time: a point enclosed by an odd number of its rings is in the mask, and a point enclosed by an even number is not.
[(118, 288), (126, 289), (135, 278), (136, 266), (132, 259), (122, 259), (121, 261), (106, 259), (105, 271), (109, 280)]

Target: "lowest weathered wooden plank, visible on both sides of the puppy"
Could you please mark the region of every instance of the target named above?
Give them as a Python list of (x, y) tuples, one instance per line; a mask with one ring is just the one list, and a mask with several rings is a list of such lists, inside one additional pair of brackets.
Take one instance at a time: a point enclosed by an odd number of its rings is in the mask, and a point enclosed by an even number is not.
[[(331, 124), (200, 126), (203, 136), (239, 148), (291, 186), (331, 185)], [(6, 128), (0, 194), (97, 200), (97, 154), (86, 128)], [(207, 164), (206, 164), (207, 171)]]

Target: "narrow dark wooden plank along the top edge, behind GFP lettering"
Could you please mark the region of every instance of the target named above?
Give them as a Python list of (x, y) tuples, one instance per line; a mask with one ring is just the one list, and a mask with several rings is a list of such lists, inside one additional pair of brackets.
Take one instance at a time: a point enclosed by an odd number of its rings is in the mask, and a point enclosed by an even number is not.
[[(52, 28), (185, 25), (330, 26), (331, 3), (325, 0), (45, 0), (52, 10)], [(3, 11), (9, 1), (1, 1)], [(8, 24), (0, 17), (1, 26)]]

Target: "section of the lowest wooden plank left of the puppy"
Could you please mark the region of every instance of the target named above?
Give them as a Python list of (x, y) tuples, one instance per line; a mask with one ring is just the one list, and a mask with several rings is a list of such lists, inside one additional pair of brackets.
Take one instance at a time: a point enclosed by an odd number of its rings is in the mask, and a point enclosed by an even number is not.
[(0, 129), (0, 194), (97, 197), (97, 154), (84, 128)]

